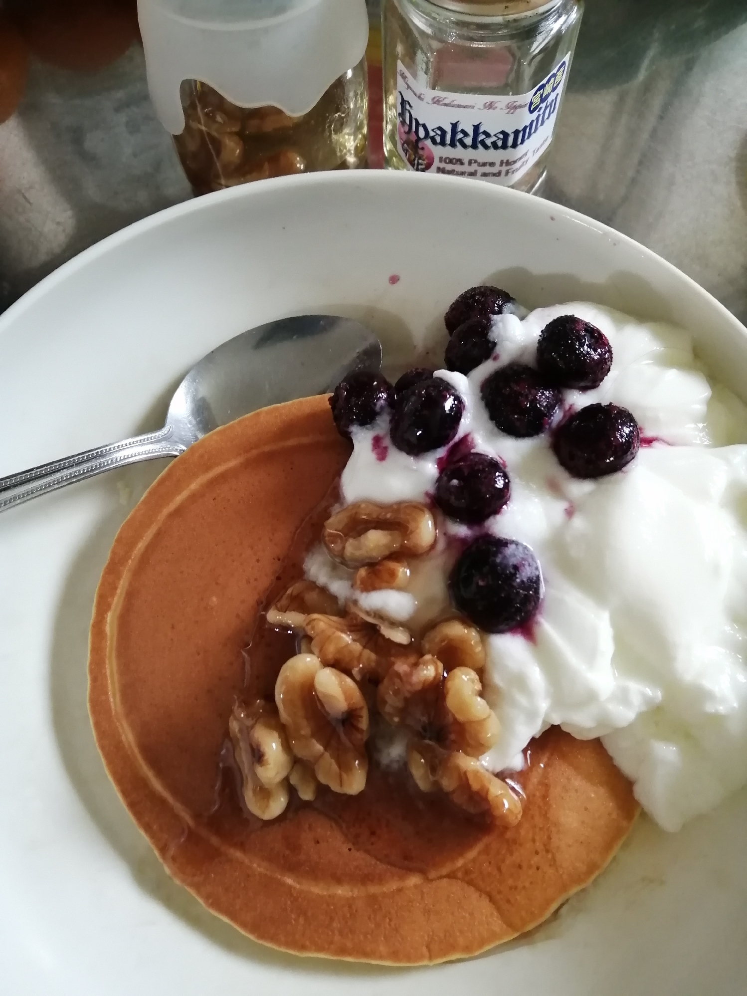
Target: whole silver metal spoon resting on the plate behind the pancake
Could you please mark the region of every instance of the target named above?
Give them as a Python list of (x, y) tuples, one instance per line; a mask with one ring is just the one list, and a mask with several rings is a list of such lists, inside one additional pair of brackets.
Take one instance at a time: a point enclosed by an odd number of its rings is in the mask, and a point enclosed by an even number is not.
[(300, 315), (229, 339), (186, 374), (157, 432), (0, 478), (0, 512), (127, 463), (178, 456), (203, 435), (268, 404), (324, 394), (347, 373), (378, 371), (381, 345), (348, 318)]

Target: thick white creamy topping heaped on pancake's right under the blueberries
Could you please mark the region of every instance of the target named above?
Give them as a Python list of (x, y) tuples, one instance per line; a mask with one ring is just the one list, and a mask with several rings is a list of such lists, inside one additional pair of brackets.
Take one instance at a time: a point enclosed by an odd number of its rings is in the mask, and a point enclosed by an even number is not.
[[(595, 480), (571, 477), (547, 433), (502, 433), (480, 398), (498, 367), (535, 366), (541, 331), (569, 314), (605, 333), (614, 362), (599, 388), (567, 390), (566, 403), (628, 408), (643, 443), (624, 470)], [(465, 402), (454, 442), (471, 436), (511, 479), (508, 505), (479, 531), (532, 547), (545, 592), (530, 631), (486, 637), (485, 696), (501, 736), (481, 761), (520, 768), (523, 749), (553, 724), (602, 737), (643, 808), (677, 830), (747, 782), (747, 408), (709, 381), (689, 336), (669, 325), (572, 303), (498, 316), (490, 335), (487, 363), (437, 375)], [(445, 450), (407, 456), (385, 418), (353, 440), (346, 503), (429, 501)], [(475, 535), (440, 515), (438, 524), (419, 572), (427, 592), (412, 587), (413, 619), (446, 607), (449, 536)], [(344, 569), (321, 566), (323, 554), (310, 556), (307, 576), (337, 594)]]

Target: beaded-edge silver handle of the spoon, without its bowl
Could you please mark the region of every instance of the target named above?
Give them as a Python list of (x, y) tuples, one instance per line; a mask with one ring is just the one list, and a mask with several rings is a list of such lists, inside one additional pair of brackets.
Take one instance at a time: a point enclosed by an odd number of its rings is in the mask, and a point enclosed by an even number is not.
[(157, 432), (146, 432), (121, 442), (97, 446), (64, 460), (53, 460), (18, 474), (0, 477), (0, 512), (115, 467), (139, 463), (140, 460), (178, 456), (186, 447), (175, 442), (172, 436), (171, 426), (166, 425)]

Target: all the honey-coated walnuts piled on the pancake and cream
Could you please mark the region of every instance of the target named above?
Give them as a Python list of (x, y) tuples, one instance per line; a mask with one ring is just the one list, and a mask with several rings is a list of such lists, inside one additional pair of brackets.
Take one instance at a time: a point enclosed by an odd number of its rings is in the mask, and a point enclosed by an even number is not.
[[(408, 557), (436, 540), (423, 505), (357, 502), (327, 520), (329, 554), (356, 568), (359, 592), (399, 590)], [(321, 782), (356, 795), (366, 787), (366, 740), (377, 711), (409, 732), (407, 766), (423, 792), (447, 793), (471, 813), (513, 826), (521, 802), (477, 760), (499, 724), (481, 697), (485, 649), (480, 631), (460, 619), (438, 622), (419, 640), (400, 623), (363, 612), (310, 581), (299, 581), (268, 611), (267, 622), (294, 629), (304, 651), (280, 670), (275, 702), (237, 704), (229, 722), (243, 794), (263, 820), (288, 805), (290, 783), (312, 800)]]

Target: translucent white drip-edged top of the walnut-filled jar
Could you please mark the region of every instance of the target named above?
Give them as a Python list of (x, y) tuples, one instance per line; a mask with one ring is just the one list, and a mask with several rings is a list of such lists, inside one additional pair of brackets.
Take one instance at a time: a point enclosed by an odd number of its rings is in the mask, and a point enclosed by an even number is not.
[(242, 108), (292, 118), (366, 53), (366, 0), (137, 0), (150, 99), (172, 134), (179, 90), (199, 80)]

